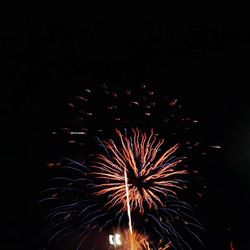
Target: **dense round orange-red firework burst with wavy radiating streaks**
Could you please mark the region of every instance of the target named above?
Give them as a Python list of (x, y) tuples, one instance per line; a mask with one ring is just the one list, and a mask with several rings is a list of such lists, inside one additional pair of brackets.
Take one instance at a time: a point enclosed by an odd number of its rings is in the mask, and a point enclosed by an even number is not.
[(107, 154), (97, 155), (98, 161), (92, 166), (92, 174), (99, 180), (96, 188), (101, 189), (95, 195), (108, 194), (108, 207), (120, 205), (122, 210), (126, 210), (126, 171), (130, 209), (143, 214), (145, 206), (149, 210), (163, 207), (170, 193), (176, 195), (173, 189), (182, 188), (177, 177), (187, 174), (187, 171), (175, 170), (175, 166), (182, 161), (173, 156), (177, 144), (157, 157), (164, 139), (157, 141), (153, 130), (148, 137), (138, 129), (132, 131), (133, 137), (129, 138), (116, 130), (120, 147), (113, 140), (104, 142)]

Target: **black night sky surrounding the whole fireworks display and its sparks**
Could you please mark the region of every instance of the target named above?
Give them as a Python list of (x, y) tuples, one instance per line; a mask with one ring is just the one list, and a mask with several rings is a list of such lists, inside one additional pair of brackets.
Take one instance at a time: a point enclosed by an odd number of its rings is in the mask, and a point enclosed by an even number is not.
[(1, 249), (43, 249), (46, 164), (67, 155), (50, 132), (71, 97), (103, 82), (149, 82), (199, 119), (201, 141), (221, 145), (200, 167), (206, 249), (250, 249), (247, 9), (60, 7), (1, 10)]

